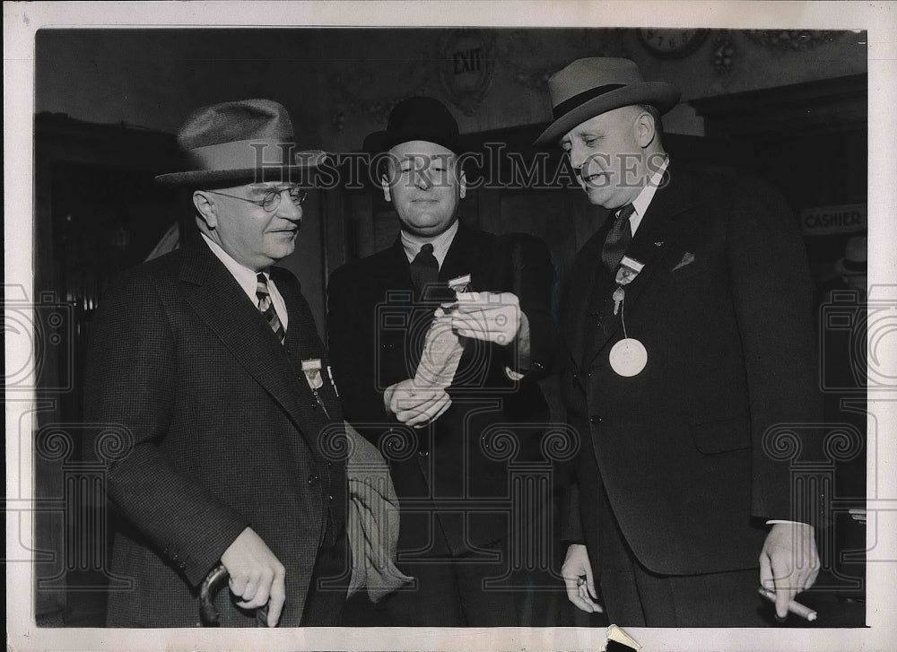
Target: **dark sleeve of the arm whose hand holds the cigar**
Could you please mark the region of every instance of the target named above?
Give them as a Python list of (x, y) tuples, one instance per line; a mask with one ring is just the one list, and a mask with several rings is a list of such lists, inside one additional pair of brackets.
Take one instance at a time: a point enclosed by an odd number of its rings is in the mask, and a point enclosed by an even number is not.
[(781, 459), (795, 441), (801, 459), (820, 448), (812, 284), (797, 225), (774, 188), (736, 194), (727, 263), (751, 405), (752, 514), (815, 524), (819, 515), (798, 507), (814, 500), (792, 497), (792, 460)]

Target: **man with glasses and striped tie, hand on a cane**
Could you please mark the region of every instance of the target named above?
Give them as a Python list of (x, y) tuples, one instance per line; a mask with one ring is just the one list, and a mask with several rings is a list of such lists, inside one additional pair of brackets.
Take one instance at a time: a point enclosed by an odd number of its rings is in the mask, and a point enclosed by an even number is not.
[(178, 140), (190, 171), (157, 180), (192, 190), (197, 232), (113, 283), (91, 325), (86, 418), (122, 439), (101, 429), (89, 452), (120, 517), (111, 570), (133, 582), (107, 622), (199, 625), (198, 588), (221, 563), (222, 625), (255, 625), (263, 607), (269, 627), (335, 624), (342, 415), (300, 285), (273, 266), (300, 230), (293, 175), (322, 152), (295, 152), (271, 100), (198, 109)]

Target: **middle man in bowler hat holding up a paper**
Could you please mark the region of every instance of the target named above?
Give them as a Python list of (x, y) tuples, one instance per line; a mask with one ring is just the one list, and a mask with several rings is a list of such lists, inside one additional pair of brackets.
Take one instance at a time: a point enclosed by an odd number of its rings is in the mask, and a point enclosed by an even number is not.
[[(346, 417), (388, 459), (401, 506), (396, 565), (416, 579), (387, 598), (391, 625), (519, 624), (520, 578), (502, 576), (516, 559), (511, 508), (525, 506), (509, 478), (514, 465), (544, 459), (548, 410), (536, 378), (556, 339), (551, 256), (536, 238), (459, 224), (466, 178), (457, 136), (455, 119), (431, 98), (399, 102), (388, 128), (369, 136), (401, 233), (335, 270), (327, 290)], [(457, 304), (453, 280), (468, 290)], [(427, 369), (440, 363), (422, 360), (434, 313), (448, 342), (463, 347), (441, 384), (430, 382), (440, 369)]]

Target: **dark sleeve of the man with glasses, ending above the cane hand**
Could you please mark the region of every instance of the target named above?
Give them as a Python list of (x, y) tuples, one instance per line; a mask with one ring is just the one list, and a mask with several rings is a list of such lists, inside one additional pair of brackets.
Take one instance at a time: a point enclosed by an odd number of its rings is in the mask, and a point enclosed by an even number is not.
[[(177, 343), (150, 280), (114, 287), (91, 325), (85, 418), (97, 426), (88, 457), (103, 458), (109, 500), (198, 585), (248, 521), (205, 486), (179, 474), (160, 448), (178, 397)], [(102, 424), (126, 454), (103, 456)]]

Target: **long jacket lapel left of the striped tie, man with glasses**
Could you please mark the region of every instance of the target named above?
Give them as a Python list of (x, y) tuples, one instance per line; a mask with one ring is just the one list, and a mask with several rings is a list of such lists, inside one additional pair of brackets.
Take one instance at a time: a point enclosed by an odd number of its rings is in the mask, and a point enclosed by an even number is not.
[[(196, 290), (187, 295), (187, 301), (239, 364), (274, 397), (301, 430), (300, 385), (283, 345), (239, 283), (204, 242), (194, 240), (185, 245), (185, 249), (180, 278), (196, 286)], [(290, 303), (294, 302), (287, 305)]]

